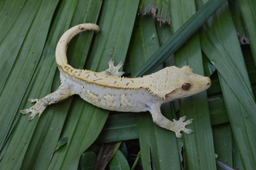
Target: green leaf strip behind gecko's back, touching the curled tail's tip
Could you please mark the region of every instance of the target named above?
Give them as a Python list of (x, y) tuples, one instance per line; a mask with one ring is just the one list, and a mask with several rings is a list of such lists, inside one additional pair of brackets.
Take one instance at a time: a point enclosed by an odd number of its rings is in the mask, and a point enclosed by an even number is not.
[[(100, 71), (108, 68), (106, 63), (110, 58), (113, 58), (116, 64), (119, 61), (124, 63), (124, 54), (128, 50), (126, 44), (130, 43), (131, 30), (133, 29), (139, 1), (118, 1), (118, 3), (107, 1), (104, 5), (106, 8), (102, 9), (104, 14), (100, 16), (99, 21), (100, 38), (95, 38), (95, 44), (98, 45), (92, 47), (91, 57), (85, 64), (85, 68), (91, 68), (92, 70), (99, 70), (100, 68)], [(114, 20), (113, 16), (115, 16)], [(127, 25), (127, 23), (129, 24)], [(100, 58), (102, 59), (100, 60)]]

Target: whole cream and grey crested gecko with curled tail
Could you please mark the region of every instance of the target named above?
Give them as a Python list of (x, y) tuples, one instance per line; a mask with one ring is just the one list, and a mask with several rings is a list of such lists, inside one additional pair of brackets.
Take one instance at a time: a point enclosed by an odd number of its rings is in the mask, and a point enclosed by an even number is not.
[(160, 107), (165, 102), (206, 90), (211, 86), (209, 77), (194, 74), (188, 66), (172, 66), (151, 75), (126, 78), (121, 77), (124, 72), (118, 71), (122, 62), (115, 67), (112, 59), (108, 63), (109, 68), (102, 72), (75, 69), (67, 61), (68, 43), (71, 38), (85, 30), (98, 32), (100, 28), (92, 23), (84, 23), (70, 28), (61, 36), (55, 52), (61, 85), (58, 90), (42, 99), (29, 99), (30, 102), (36, 103), (29, 109), (20, 110), (22, 114), (31, 112), (28, 119), (33, 120), (37, 114), (41, 116), (48, 105), (78, 94), (83, 100), (107, 110), (149, 111), (154, 123), (175, 132), (177, 137), (181, 137), (180, 131), (188, 134), (193, 132), (185, 127), (192, 123), (193, 119), (183, 122), (186, 119), (186, 116), (183, 116), (179, 120), (171, 121), (161, 114)]

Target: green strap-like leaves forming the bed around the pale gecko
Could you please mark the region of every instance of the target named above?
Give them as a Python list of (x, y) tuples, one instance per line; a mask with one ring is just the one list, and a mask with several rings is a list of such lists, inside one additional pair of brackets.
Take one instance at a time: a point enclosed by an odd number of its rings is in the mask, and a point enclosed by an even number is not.
[[(215, 155), (229, 167), (253, 169), (255, 8), (253, 0), (0, 1), (0, 167), (93, 169), (95, 153), (84, 153), (93, 143), (139, 139), (143, 169), (221, 169)], [(29, 98), (60, 85), (55, 47), (79, 23), (97, 23), (101, 31), (72, 39), (67, 55), (74, 68), (102, 71), (113, 58), (131, 77), (172, 65), (211, 76), (207, 92), (161, 108), (170, 119), (193, 118), (187, 127), (194, 133), (177, 139), (149, 113), (109, 115), (78, 96), (31, 122), (21, 115), (32, 106)], [(129, 169), (119, 145), (109, 169)]]

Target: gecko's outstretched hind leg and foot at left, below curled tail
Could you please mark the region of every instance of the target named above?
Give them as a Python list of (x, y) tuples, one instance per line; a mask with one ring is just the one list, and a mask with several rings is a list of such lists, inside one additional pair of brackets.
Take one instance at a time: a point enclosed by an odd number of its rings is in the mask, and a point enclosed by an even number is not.
[(44, 109), (52, 104), (57, 103), (61, 100), (68, 98), (69, 96), (76, 94), (77, 90), (72, 83), (69, 83), (68, 79), (65, 79), (58, 90), (55, 92), (46, 95), (42, 99), (29, 99), (29, 102), (36, 102), (36, 104), (29, 109), (20, 110), (21, 114), (28, 114), (31, 112), (31, 115), (28, 117), (28, 120), (33, 120), (35, 116), (38, 114), (40, 117)]

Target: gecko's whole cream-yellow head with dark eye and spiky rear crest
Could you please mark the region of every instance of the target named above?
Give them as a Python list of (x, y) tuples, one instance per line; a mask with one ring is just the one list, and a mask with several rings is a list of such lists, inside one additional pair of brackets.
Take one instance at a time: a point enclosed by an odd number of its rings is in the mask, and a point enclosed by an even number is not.
[(211, 79), (194, 74), (188, 66), (166, 67), (144, 77), (146, 88), (166, 101), (185, 98), (211, 86)]

